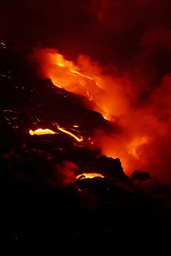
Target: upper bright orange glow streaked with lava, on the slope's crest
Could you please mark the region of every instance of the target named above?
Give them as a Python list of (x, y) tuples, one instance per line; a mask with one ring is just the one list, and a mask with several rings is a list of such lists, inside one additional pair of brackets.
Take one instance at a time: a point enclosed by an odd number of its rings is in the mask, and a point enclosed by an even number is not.
[[(50, 78), (52, 83), (59, 88), (83, 95), (91, 102), (94, 101), (94, 110), (104, 114), (107, 119), (109, 113), (101, 99), (103, 82), (96, 73), (95, 66), (93, 70), (86, 57), (81, 56), (78, 60), (79, 63), (74, 64), (74, 62), (64, 59), (60, 53), (53, 50), (42, 50), (40, 59), (44, 63), (41, 71), (43, 77)], [(84, 66), (86, 65), (88, 65), (88, 69), (85, 71), (86, 67)]]

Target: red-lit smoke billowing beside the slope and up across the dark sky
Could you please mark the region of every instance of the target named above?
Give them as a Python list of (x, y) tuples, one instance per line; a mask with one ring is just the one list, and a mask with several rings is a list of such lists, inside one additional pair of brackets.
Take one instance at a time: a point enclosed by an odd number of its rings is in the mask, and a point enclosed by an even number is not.
[[(98, 83), (99, 89), (86, 81), (101, 112), (120, 127), (110, 135), (96, 131), (94, 144), (102, 153), (119, 157), (128, 174), (148, 170), (171, 181), (171, 2), (25, 0), (0, 7), (1, 39), (58, 48), (75, 60), (72, 68)], [(39, 73), (54, 80), (49, 53), (56, 50), (36, 54)], [(80, 53), (90, 57), (77, 59)], [(72, 91), (86, 96), (77, 88)]]

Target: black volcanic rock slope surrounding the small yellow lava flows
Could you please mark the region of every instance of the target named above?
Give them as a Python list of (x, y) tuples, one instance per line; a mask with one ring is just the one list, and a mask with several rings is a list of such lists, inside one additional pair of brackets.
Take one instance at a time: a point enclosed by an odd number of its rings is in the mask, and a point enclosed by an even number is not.
[[(80, 97), (35, 78), (25, 63), (18, 53), (0, 49), (1, 244), (16, 255), (50, 256), (66, 248), (70, 255), (86, 249), (90, 254), (92, 246), (96, 254), (104, 249), (106, 255), (139, 250), (170, 255), (170, 187), (148, 197), (132, 187), (119, 159), (100, 156), (86, 143), (78, 146), (60, 132), (28, 135), (29, 129), (54, 129), (53, 121), (68, 129), (79, 124), (86, 138), (110, 125), (80, 105)], [(64, 183), (66, 176), (84, 171), (105, 178)], [(7, 249), (1, 255), (11, 255)]]

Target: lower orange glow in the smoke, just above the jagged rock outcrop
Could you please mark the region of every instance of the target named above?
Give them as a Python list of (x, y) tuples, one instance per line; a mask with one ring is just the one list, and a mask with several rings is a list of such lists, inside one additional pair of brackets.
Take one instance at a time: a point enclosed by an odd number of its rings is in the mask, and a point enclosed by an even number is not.
[(132, 135), (127, 138), (125, 135), (106, 134), (104, 132), (96, 132), (94, 145), (102, 148), (102, 154), (107, 157), (121, 159), (121, 165), (126, 174), (130, 175), (132, 170), (145, 168), (145, 162), (148, 158), (146, 148), (151, 144), (151, 139), (145, 135)]

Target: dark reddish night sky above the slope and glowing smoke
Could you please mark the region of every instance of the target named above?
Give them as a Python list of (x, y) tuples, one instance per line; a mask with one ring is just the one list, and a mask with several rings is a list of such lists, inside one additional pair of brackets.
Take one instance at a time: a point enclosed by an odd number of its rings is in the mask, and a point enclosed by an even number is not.
[(0, 38), (89, 53), (122, 66), (158, 39), (162, 50), (170, 48), (170, 8), (169, 0), (1, 1)]

